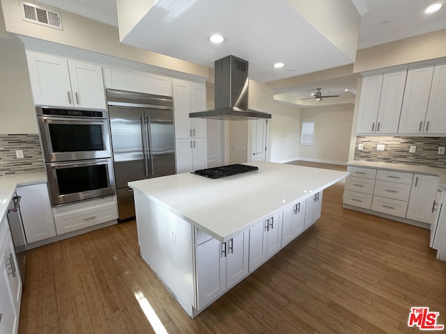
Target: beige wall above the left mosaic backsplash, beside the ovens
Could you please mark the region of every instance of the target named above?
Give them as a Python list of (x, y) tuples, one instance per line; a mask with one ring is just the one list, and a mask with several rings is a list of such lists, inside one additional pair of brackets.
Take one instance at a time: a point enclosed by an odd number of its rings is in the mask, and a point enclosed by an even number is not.
[(23, 43), (0, 38), (0, 134), (37, 134)]

